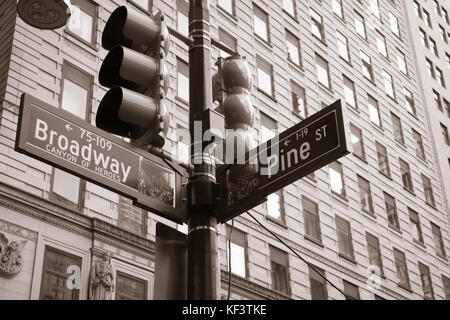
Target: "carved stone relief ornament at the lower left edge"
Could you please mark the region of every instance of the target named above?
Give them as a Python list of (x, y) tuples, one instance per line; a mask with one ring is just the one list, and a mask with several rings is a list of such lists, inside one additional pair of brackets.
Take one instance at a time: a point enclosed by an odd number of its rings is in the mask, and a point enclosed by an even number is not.
[(11, 241), (0, 233), (0, 276), (12, 278), (22, 271), (22, 249), (26, 240)]

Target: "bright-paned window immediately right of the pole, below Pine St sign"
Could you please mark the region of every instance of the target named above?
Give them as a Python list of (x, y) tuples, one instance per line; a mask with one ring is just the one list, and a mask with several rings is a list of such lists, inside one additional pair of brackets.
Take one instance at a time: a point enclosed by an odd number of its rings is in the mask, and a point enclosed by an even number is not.
[[(227, 240), (230, 236), (231, 228), (229, 225), (227, 229)], [(238, 275), (242, 278), (247, 276), (247, 244), (246, 236), (240, 230), (233, 228), (231, 233), (231, 273)], [(227, 245), (227, 263), (230, 264), (229, 252)]]

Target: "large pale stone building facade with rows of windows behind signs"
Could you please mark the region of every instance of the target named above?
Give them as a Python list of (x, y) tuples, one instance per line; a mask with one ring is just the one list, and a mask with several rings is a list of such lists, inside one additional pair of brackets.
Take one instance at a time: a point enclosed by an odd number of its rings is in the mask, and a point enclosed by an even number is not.
[[(97, 76), (106, 55), (101, 34), (117, 6), (160, 10), (187, 35), (188, 3), (72, 3), (78, 9), (65, 28), (42, 31), (17, 17), (15, 1), (0, 2), (0, 236), (2, 246), (20, 244), (22, 257), (18, 274), (0, 274), (0, 298), (87, 299), (91, 270), (109, 253), (111, 298), (152, 299), (155, 224), (185, 226), (19, 154), (14, 144), (23, 92), (94, 124), (106, 93)], [(270, 195), (252, 215), (352, 298), (450, 299), (450, 123), (433, 96), (443, 105), (450, 99), (448, 4), (417, 1), (417, 11), (406, 0), (209, 3), (211, 36), (246, 56), (252, 71), (259, 143), (343, 102), (352, 153)], [(423, 9), (432, 27), (416, 16)], [(423, 48), (418, 28), (436, 49)], [(188, 47), (170, 41), (164, 149), (188, 159), (176, 138), (188, 128)], [(226, 54), (213, 48), (212, 58), (219, 55)], [(231, 299), (345, 298), (249, 215), (219, 233), (221, 298), (229, 263)]]

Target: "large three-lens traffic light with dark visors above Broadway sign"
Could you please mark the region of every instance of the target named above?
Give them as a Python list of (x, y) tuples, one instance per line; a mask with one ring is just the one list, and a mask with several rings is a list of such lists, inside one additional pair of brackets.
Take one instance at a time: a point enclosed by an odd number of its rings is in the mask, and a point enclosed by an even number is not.
[(169, 32), (160, 13), (148, 17), (122, 6), (109, 17), (102, 46), (110, 50), (100, 68), (100, 84), (110, 88), (97, 111), (96, 125), (140, 147), (162, 148), (169, 128), (164, 97), (169, 77), (164, 63)]

